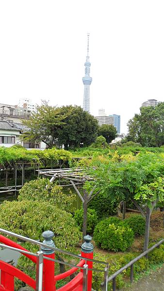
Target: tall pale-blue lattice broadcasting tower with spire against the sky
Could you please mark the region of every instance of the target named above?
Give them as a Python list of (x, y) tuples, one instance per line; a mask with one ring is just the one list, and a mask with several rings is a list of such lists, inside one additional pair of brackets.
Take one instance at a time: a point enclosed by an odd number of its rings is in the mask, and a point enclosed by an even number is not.
[(90, 112), (90, 84), (92, 82), (92, 78), (89, 76), (90, 74), (90, 66), (89, 62), (89, 33), (87, 34), (87, 56), (85, 62), (85, 77), (82, 78), (84, 84), (84, 97), (83, 97), (83, 110)]

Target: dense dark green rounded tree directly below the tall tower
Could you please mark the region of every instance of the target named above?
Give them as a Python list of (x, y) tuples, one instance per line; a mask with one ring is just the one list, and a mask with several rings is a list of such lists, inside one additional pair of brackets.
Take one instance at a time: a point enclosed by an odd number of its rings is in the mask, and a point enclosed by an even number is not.
[(65, 149), (91, 145), (98, 131), (98, 121), (80, 106), (63, 106), (61, 114), (66, 116), (65, 124), (58, 130), (58, 142), (64, 145)]

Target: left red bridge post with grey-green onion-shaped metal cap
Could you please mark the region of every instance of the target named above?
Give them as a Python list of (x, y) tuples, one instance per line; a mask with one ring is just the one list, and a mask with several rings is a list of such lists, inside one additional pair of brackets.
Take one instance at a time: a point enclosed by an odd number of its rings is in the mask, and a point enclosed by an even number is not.
[[(47, 244), (46, 246), (41, 246), (41, 251), (44, 254), (44, 257), (48, 257), (51, 259), (55, 259), (55, 254), (52, 249), (49, 248), (49, 246), (55, 246), (54, 242), (51, 240), (54, 237), (54, 233), (50, 230), (44, 231), (42, 233), (43, 238), (45, 239), (43, 243)], [(55, 291), (55, 263), (54, 261), (50, 261), (48, 259), (43, 259), (44, 264), (44, 279), (43, 279), (43, 286), (44, 291)]]

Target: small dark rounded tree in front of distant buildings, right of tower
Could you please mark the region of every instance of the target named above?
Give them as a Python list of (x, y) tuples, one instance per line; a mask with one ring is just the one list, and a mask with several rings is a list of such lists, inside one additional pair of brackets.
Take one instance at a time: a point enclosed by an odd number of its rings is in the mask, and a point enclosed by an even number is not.
[(117, 135), (117, 130), (112, 124), (103, 124), (98, 127), (98, 135), (105, 137), (106, 142), (110, 144)]

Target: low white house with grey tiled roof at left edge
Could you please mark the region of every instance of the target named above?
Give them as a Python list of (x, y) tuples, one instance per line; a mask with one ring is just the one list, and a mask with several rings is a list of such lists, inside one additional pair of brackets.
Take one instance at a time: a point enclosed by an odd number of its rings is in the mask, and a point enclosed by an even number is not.
[(45, 149), (46, 144), (31, 143), (20, 141), (20, 134), (28, 131), (28, 129), (20, 123), (12, 123), (6, 120), (0, 120), (0, 146), (10, 147), (14, 145), (21, 145), (27, 149), (37, 148)]

